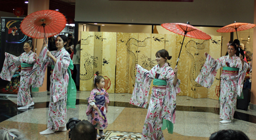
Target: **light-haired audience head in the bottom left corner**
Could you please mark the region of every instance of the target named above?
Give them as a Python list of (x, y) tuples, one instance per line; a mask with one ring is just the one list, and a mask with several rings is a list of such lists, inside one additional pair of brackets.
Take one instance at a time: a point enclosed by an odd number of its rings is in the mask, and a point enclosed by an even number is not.
[(0, 139), (3, 140), (20, 140), (24, 139), (25, 135), (22, 132), (19, 132), (17, 129), (6, 129), (4, 127), (0, 127)]

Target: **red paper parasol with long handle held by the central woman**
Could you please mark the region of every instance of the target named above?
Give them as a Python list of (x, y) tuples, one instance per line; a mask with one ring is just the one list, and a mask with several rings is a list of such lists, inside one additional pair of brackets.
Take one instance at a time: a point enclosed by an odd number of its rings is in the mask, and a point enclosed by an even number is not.
[[(206, 33), (202, 32), (201, 30), (197, 29), (196, 27), (194, 27), (192, 25), (189, 25), (189, 22), (187, 22), (186, 24), (184, 24), (184, 23), (163, 23), (161, 25), (165, 29), (172, 31), (175, 34), (184, 36), (183, 41), (181, 43), (180, 52), (181, 52), (181, 49), (183, 46), (185, 36), (190, 37), (190, 38), (196, 38), (196, 39), (204, 39), (204, 40), (211, 39), (211, 37), (209, 35), (207, 35)], [(180, 58), (180, 53), (179, 53), (176, 67), (178, 65), (179, 58)]]

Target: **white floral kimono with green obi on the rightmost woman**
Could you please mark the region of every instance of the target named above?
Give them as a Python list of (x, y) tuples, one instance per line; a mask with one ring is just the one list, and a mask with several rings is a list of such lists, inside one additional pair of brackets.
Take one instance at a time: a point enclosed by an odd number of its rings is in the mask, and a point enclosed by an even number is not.
[(242, 68), (242, 62), (236, 54), (230, 59), (229, 55), (226, 55), (217, 60), (211, 58), (208, 54), (205, 64), (195, 81), (203, 87), (210, 88), (217, 70), (221, 67), (223, 67), (223, 70), (220, 83), (220, 118), (233, 120), (234, 107), (236, 107), (237, 96), (240, 96), (243, 90), (243, 81), (248, 64), (244, 62), (244, 68)]

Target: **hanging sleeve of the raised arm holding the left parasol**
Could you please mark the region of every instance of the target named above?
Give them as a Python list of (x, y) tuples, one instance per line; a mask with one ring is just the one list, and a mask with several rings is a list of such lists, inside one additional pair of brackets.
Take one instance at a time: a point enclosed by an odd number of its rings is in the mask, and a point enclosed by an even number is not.
[(45, 72), (48, 64), (50, 63), (49, 57), (47, 57), (46, 52), (48, 51), (47, 47), (44, 47), (40, 52), (37, 61), (35, 62), (32, 71), (29, 74), (27, 80), (29, 85), (32, 85), (33, 88), (41, 87), (42, 83), (44, 83)]

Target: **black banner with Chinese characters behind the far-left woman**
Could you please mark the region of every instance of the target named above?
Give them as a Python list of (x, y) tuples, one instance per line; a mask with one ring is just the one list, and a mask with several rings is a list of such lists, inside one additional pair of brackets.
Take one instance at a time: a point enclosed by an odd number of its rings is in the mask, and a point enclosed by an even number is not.
[[(0, 72), (2, 71), (5, 52), (19, 56), (24, 51), (24, 43), (32, 42), (32, 38), (26, 36), (20, 30), (20, 23), (24, 18), (2, 17), (1, 18), (1, 48), (0, 48)], [(18, 72), (18, 70), (17, 70)], [(6, 81), (0, 78), (0, 93), (16, 94), (19, 87), (19, 76)]]

